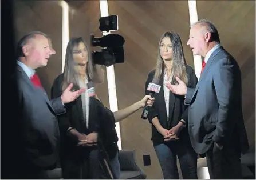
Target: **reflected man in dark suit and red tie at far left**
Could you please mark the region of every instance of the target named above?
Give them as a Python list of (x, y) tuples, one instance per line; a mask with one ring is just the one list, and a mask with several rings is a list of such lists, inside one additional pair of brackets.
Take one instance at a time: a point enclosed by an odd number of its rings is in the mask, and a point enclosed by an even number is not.
[[(17, 154), (13, 154), (13, 174), (7, 178), (48, 178), (47, 170), (56, 167), (59, 150), (59, 130), (56, 115), (65, 113), (65, 103), (74, 101), (85, 90), (70, 91), (50, 101), (36, 74), (38, 67), (46, 66), (55, 51), (48, 37), (41, 32), (25, 35), (17, 47), (18, 121), (15, 126)], [(13, 148), (13, 147), (10, 147)], [(11, 160), (11, 159), (10, 159)]]

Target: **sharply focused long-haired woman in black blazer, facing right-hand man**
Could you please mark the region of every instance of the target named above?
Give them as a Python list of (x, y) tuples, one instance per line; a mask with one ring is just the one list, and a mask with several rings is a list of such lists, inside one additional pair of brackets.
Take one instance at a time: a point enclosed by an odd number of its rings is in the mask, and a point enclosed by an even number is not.
[(197, 154), (192, 149), (188, 135), (188, 107), (184, 97), (171, 93), (166, 86), (176, 84), (174, 77), (195, 87), (198, 79), (192, 67), (186, 65), (180, 37), (174, 31), (164, 33), (159, 41), (156, 69), (148, 74), (145, 83), (160, 79), (160, 92), (150, 108), (148, 120), (152, 123), (152, 142), (163, 171), (164, 179), (179, 179), (177, 156), (183, 179), (197, 179)]

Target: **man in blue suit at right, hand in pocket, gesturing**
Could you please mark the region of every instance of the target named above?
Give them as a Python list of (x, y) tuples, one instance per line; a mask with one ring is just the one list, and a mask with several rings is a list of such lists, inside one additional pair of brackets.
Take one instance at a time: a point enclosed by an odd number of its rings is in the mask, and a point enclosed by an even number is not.
[(241, 179), (241, 152), (249, 148), (242, 114), (241, 71), (235, 59), (220, 46), (210, 21), (191, 25), (189, 45), (204, 57), (195, 89), (179, 78), (170, 90), (185, 95), (189, 106), (188, 129), (196, 153), (206, 154), (211, 179)]

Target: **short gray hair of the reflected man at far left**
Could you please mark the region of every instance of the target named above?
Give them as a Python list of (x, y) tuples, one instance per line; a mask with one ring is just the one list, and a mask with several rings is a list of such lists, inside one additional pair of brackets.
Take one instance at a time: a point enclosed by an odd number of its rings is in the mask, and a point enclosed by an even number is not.
[(44, 37), (48, 38), (48, 35), (46, 35), (45, 33), (42, 33), (41, 31), (32, 31), (30, 33), (27, 33), (18, 42), (17, 52), (16, 52), (17, 58), (24, 57), (22, 47), (25, 46), (30, 39), (36, 38), (36, 35), (43, 35)]

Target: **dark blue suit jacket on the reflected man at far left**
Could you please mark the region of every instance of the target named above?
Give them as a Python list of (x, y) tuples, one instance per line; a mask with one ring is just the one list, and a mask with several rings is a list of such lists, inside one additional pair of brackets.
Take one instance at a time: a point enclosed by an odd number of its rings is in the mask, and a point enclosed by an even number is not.
[[(17, 65), (16, 80), (19, 97), (19, 126), (17, 147), (23, 155), (21, 168), (32, 171), (53, 169), (59, 150), (59, 131), (56, 114), (65, 113), (61, 98), (49, 101), (40, 88), (34, 87), (22, 67)], [(17, 150), (18, 150), (17, 149)], [(15, 173), (15, 171), (13, 172)]]

